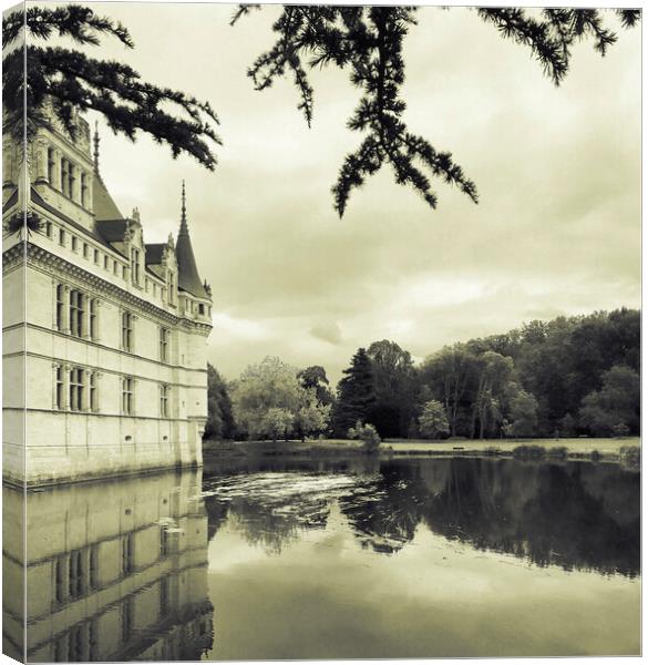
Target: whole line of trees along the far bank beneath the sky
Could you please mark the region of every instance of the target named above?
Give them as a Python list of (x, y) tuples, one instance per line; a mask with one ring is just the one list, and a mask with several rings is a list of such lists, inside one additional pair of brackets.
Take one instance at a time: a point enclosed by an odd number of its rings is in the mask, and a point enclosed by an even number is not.
[(640, 423), (640, 313), (534, 320), (456, 342), (416, 365), (390, 340), (360, 348), (337, 389), (326, 370), (278, 358), (229, 383), (209, 367), (206, 437), (381, 438), (629, 436)]

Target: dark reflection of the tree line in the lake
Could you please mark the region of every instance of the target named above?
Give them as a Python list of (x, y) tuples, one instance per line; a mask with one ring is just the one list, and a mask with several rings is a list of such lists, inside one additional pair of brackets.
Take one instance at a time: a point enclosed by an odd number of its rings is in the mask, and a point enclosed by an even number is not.
[(213, 469), (204, 488), (209, 538), (229, 520), (272, 553), (323, 529), (338, 501), (362, 546), (379, 553), (423, 526), (539, 566), (639, 574), (639, 473), (617, 464), (270, 459)]

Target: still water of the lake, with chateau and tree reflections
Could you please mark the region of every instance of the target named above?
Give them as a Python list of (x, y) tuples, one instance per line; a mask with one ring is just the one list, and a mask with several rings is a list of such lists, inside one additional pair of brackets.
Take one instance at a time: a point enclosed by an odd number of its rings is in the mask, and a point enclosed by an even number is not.
[[(476, 458), (268, 459), (32, 492), (28, 659), (638, 654), (639, 493), (616, 464)], [(20, 493), (3, 500), (19, 515)]]

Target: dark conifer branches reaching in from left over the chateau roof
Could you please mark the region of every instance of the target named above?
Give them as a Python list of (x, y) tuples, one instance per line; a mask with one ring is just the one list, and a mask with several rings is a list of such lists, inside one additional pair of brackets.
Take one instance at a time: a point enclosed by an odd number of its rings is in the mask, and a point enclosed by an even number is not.
[[(17, 11), (3, 20), (6, 43), (20, 35), (24, 17), (22, 11)], [(54, 10), (29, 8), (24, 20), (29, 33), (43, 40), (59, 34), (78, 43), (96, 45), (97, 34), (105, 33), (133, 45), (123, 25), (79, 6)], [(208, 102), (144, 82), (124, 63), (95, 60), (61, 47), (30, 44), (25, 51), (30, 74), (27, 78), (22, 50), (13, 50), (3, 58), (3, 129), (14, 136), (21, 139), (24, 130), (24, 95), (30, 109), (27, 119), (30, 139), (39, 127), (52, 129), (50, 111), (74, 136), (75, 113), (93, 110), (105, 116), (115, 133), (134, 141), (138, 131), (145, 132), (157, 143), (168, 145), (174, 157), (186, 153), (203, 166), (215, 167), (212, 144), (220, 145), (220, 139), (214, 131), (218, 119)]]

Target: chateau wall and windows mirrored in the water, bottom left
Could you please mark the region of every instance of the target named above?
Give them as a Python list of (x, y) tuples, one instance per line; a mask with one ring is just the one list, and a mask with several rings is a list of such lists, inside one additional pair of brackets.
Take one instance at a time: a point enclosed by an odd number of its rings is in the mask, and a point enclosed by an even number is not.
[(198, 471), (28, 492), (27, 556), (24, 495), (4, 487), (4, 653), (22, 659), (25, 646), (29, 662), (199, 659), (214, 640), (200, 483)]

